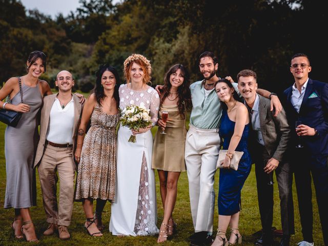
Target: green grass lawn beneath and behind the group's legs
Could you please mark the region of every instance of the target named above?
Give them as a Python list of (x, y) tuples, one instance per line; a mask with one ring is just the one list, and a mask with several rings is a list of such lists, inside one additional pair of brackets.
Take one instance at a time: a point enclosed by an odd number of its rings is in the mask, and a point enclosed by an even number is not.
[[(26, 241), (19, 241), (14, 238), (14, 234), (10, 228), (10, 224), (14, 218), (13, 209), (3, 209), (5, 200), (5, 189), (6, 189), (6, 162), (5, 162), (5, 128), (6, 126), (0, 122), (0, 245), (33, 245), (33, 243), (27, 243)], [(153, 129), (153, 132), (155, 129)], [(19, 149), (13, 149), (13, 154), (19, 151)], [(127, 170), (128, 171), (128, 170)], [(36, 172), (37, 173), (37, 172)], [(160, 226), (163, 209), (159, 195), (158, 176), (156, 176), (156, 191), (157, 191), (157, 208), (158, 208), (158, 221), (157, 226)], [(45, 220), (45, 212), (42, 205), (42, 194), (40, 189), (40, 183), (37, 179), (37, 207), (31, 208), (31, 214), (36, 227), (36, 234), (39, 238), (37, 245), (156, 245), (156, 236), (149, 237), (124, 237), (118, 238), (112, 236), (108, 231), (108, 227), (103, 231), (104, 236), (100, 238), (94, 238), (89, 236), (86, 230), (83, 228), (85, 221), (85, 215), (80, 202), (74, 202), (74, 210), (71, 226), (69, 231), (72, 238), (67, 241), (61, 241), (57, 235), (43, 236), (44, 230), (47, 228), (47, 222)], [(280, 223), (280, 207), (279, 207), (279, 194), (277, 182), (274, 180), (274, 222), (273, 226), (277, 229), (281, 229)], [(218, 172), (215, 175), (215, 194), (218, 193)], [(59, 190), (59, 189), (58, 189)], [(314, 193), (314, 189), (313, 189)], [(295, 184), (293, 186), (294, 196), (294, 209), (295, 209), (295, 235), (291, 238), (291, 245), (295, 245), (297, 242), (302, 240), (301, 226), (298, 213), (298, 203), (296, 197)], [(217, 198), (216, 198), (217, 199)], [(245, 182), (242, 190), (242, 211), (240, 214), (239, 229), (242, 234), (242, 245), (254, 245), (255, 236), (253, 234), (261, 229), (261, 223), (259, 218), (258, 204), (257, 204), (257, 193), (256, 193), (256, 180), (255, 170), (252, 168), (252, 172)], [(318, 214), (318, 207), (313, 194), (313, 206), (314, 206), (314, 241), (315, 245), (323, 245), (321, 225)], [(106, 226), (109, 225), (111, 214), (111, 206), (108, 202), (106, 204), (103, 222)], [(218, 216), (217, 216), (217, 201), (215, 204), (215, 217), (214, 217), (214, 233), (217, 230)], [(178, 224), (178, 232), (171, 240), (163, 243), (163, 245), (189, 245), (186, 240), (193, 231), (193, 222), (190, 212), (190, 201), (189, 201), (189, 190), (188, 190), (188, 178), (187, 173), (181, 174), (178, 182), (178, 197), (174, 210), (174, 219)], [(229, 235), (228, 235), (229, 236)], [(275, 239), (275, 245), (279, 245), (280, 239)]]

